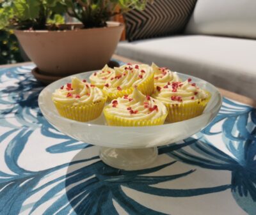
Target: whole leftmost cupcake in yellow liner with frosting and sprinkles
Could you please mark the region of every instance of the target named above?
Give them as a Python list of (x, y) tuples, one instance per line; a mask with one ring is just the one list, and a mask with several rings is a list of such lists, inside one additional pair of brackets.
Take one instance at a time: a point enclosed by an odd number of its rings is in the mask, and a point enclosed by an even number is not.
[(61, 116), (86, 122), (99, 117), (106, 96), (95, 85), (74, 77), (71, 83), (52, 93), (52, 101)]

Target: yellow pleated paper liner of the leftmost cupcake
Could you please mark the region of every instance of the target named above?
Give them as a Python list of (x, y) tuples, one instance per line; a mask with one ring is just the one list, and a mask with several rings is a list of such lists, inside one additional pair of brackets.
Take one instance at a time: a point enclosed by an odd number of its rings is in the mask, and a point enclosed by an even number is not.
[(100, 116), (106, 99), (104, 98), (90, 105), (65, 105), (58, 101), (54, 101), (54, 105), (61, 116), (80, 122), (87, 122)]

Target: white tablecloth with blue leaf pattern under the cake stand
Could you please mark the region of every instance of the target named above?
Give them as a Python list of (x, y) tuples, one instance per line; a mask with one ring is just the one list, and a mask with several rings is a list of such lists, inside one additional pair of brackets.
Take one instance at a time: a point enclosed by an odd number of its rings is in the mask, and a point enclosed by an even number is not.
[(0, 214), (256, 214), (256, 110), (224, 99), (204, 130), (159, 147), (145, 170), (54, 129), (33, 65), (0, 69)]

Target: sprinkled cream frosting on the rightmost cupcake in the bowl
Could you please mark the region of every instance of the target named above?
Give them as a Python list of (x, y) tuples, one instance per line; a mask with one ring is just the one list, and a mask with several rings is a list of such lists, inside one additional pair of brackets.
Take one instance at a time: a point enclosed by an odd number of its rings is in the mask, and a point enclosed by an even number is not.
[(164, 103), (191, 102), (208, 98), (209, 95), (204, 90), (197, 87), (196, 84), (190, 84), (190, 81), (172, 82), (164, 87), (158, 86), (152, 97)]

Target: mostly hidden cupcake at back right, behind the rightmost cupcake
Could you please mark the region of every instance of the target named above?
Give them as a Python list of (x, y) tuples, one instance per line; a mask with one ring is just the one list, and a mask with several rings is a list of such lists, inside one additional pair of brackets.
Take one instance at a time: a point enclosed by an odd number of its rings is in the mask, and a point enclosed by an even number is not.
[(154, 83), (155, 87), (163, 87), (168, 84), (168, 82), (179, 82), (181, 79), (176, 72), (168, 70), (168, 68), (158, 67), (156, 64), (152, 63), (152, 70), (154, 71)]

